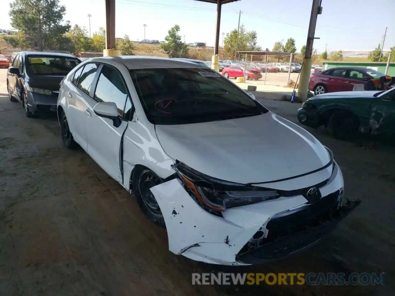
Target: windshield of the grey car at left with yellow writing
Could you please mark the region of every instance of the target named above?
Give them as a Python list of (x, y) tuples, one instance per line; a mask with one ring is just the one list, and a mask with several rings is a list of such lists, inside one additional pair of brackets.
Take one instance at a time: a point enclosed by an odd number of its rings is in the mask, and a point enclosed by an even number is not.
[(62, 56), (28, 56), (26, 69), (33, 75), (67, 75), (80, 61)]

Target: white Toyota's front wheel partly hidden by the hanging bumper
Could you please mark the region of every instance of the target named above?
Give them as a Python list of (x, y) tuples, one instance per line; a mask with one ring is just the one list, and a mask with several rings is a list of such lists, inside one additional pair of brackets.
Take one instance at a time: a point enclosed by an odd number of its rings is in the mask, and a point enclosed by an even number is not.
[(161, 184), (162, 179), (147, 168), (133, 172), (133, 193), (144, 215), (156, 225), (166, 228), (165, 219), (150, 188)]

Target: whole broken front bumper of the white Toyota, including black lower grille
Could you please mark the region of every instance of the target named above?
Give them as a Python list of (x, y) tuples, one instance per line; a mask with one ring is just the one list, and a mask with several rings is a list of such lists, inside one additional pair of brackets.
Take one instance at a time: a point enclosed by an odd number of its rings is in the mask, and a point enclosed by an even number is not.
[(336, 165), (314, 203), (303, 195), (281, 196), (228, 208), (222, 217), (203, 210), (178, 178), (151, 191), (164, 215), (171, 252), (212, 264), (250, 265), (284, 258), (319, 242), (360, 203), (342, 205), (342, 188)]

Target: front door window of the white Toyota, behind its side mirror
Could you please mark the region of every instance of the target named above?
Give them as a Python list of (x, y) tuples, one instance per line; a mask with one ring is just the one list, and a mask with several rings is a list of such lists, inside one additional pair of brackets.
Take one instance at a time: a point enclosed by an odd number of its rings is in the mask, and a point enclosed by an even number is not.
[(117, 105), (120, 116), (123, 116), (127, 94), (128, 92), (120, 73), (112, 67), (103, 66), (94, 99), (103, 102), (114, 102)]

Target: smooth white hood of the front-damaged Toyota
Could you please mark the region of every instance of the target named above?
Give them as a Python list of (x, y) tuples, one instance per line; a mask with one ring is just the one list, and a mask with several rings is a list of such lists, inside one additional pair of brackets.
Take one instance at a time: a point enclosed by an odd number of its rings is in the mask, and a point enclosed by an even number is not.
[(305, 129), (267, 112), (259, 116), (185, 125), (156, 125), (162, 148), (203, 174), (260, 183), (312, 172), (330, 161)]

